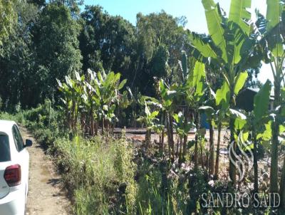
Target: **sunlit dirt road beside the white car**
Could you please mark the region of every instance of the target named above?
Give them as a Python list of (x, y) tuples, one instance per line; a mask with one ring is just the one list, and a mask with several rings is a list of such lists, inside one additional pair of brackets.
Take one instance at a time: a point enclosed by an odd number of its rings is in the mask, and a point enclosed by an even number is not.
[(53, 163), (37, 144), (33, 136), (23, 127), (21, 134), (33, 141), (28, 148), (30, 154), (29, 192), (26, 215), (71, 214), (70, 201), (62, 189), (61, 177), (56, 174)]

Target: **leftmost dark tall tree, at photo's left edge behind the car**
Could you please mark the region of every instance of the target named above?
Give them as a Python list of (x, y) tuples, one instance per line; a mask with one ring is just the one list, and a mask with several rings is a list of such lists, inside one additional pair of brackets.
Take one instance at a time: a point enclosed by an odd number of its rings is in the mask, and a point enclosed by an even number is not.
[[(16, 105), (27, 108), (36, 100), (37, 73), (33, 68), (34, 51), (31, 28), (38, 18), (38, 9), (33, 4), (15, 2), (14, 12), (18, 17), (9, 40), (4, 41), (0, 55), (0, 97), (2, 109), (15, 110)], [(33, 77), (33, 78), (31, 78)]]

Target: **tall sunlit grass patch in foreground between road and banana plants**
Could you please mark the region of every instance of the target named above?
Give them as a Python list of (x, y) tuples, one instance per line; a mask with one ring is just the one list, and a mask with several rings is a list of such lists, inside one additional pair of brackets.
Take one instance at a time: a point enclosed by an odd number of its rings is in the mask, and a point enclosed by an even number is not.
[(71, 141), (57, 139), (54, 147), (63, 181), (73, 192), (76, 214), (133, 214), (135, 164), (125, 138), (76, 136)]

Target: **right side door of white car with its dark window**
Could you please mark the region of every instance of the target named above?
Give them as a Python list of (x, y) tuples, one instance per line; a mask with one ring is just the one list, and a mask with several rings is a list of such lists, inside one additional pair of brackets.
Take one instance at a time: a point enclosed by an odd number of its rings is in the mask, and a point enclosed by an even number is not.
[(18, 164), (21, 165), (21, 180), (26, 185), (28, 179), (28, 150), (26, 150), (26, 147), (24, 146), (24, 141), (17, 125), (13, 126), (12, 133), (15, 141), (16, 150), (19, 153), (18, 157), (16, 157), (16, 161)]

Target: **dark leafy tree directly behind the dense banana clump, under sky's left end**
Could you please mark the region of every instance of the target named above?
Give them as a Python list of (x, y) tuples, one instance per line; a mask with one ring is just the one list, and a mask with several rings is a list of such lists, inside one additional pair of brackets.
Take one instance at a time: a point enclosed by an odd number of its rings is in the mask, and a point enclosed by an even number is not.
[(120, 16), (103, 12), (100, 6), (86, 6), (81, 18), (83, 70), (104, 68), (131, 78), (135, 68), (134, 26)]

